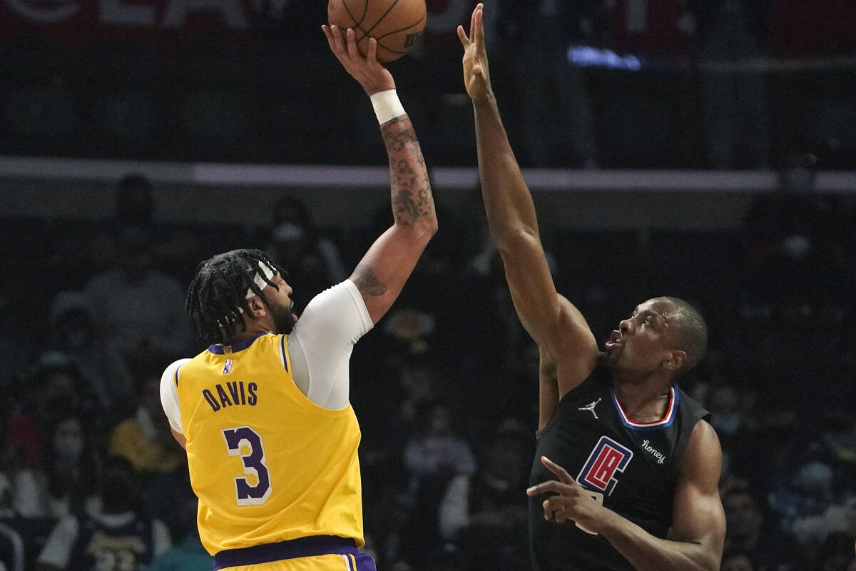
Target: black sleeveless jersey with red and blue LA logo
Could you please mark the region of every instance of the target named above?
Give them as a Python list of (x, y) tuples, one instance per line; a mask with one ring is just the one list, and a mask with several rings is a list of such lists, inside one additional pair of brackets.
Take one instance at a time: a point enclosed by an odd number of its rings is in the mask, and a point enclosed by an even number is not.
[[(612, 392), (609, 372), (598, 365), (559, 402), (537, 434), (530, 485), (556, 479), (542, 455), (564, 467), (603, 506), (665, 538), (681, 453), (707, 411), (676, 385), (666, 416), (639, 424), (627, 419)], [(632, 571), (603, 536), (572, 521), (544, 520), (544, 496), (529, 498), (529, 537), (536, 571)]]

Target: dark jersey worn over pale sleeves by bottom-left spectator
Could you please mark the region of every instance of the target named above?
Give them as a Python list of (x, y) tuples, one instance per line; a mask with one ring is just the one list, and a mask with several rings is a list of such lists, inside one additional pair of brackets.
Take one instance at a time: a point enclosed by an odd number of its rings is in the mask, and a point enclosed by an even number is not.
[(134, 517), (123, 526), (108, 526), (82, 514), (77, 516), (77, 523), (69, 569), (143, 571), (152, 561), (152, 520), (147, 517)]

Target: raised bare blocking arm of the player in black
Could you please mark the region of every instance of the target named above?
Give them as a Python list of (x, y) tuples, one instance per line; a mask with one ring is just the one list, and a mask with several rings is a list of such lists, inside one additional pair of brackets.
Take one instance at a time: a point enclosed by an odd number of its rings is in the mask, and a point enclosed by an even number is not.
[(467, 93), (473, 99), (484, 207), (520, 321), (544, 355), (556, 360), (563, 395), (588, 376), (597, 343), (586, 319), (556, 285), (538, 234), (532, 194), (520, 173), (490, 87), (484, 47), (483, 5), (473, 10), (470, 34), (458, 27), (464, 46)]

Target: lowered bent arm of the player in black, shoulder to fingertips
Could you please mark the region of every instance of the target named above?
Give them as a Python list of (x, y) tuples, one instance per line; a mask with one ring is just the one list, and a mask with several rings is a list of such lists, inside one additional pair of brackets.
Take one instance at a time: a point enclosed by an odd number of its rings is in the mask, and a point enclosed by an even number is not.
[[(673, 500), (673, 540), (656, 538), (632, 521), (604, 508), (562, 467), (542, 458), (558, 476), (534, 485), (526, 493), (544, 500), (544, 517), (580, 526), (609, 540), (639, 571), (716, 571), (722, 559), (725, 514), (717, 483), (722, 450), (713, 427), (699, 420), (681, 458), (681, 473)], [(569, 525), (573, 525), (570, 523)]]

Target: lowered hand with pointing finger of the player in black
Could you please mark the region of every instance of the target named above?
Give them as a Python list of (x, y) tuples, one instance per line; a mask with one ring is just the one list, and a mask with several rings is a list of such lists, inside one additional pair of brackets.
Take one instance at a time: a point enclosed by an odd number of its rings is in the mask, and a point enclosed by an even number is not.
[(558, 523), (574, 520), (577, 526), (586, 532), (593, 533), (593, 529), (599, 520), (599, 514), (605, 508), (597, 503), (591, 493), (574, 481), (571, 475), (556, 462), (551, 461), (547, 456), (541, 456), (541, 463), (550, 472), (555, 473), (559, 479), (551, 479), (533, 485), (526, 490), (526, 495), (538, 496), (538, 494), (554, 492), (556, 495), (548, 497), (542, 503), (544, 519), (555, 518)]

